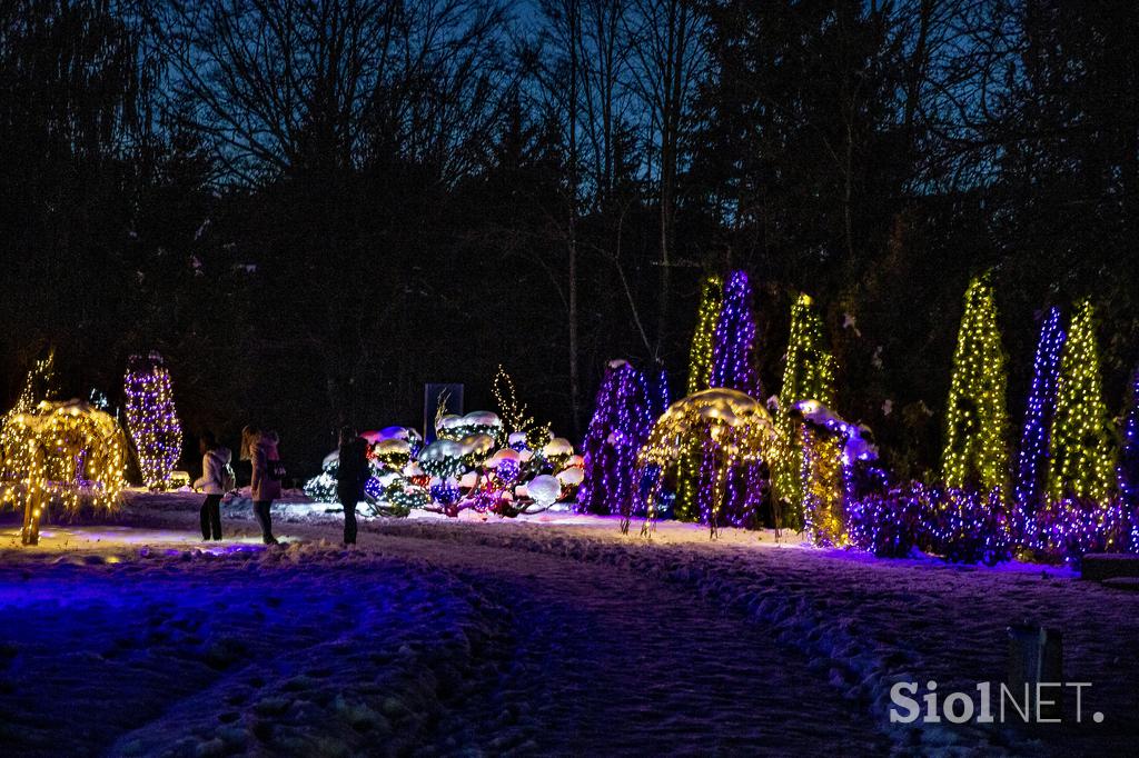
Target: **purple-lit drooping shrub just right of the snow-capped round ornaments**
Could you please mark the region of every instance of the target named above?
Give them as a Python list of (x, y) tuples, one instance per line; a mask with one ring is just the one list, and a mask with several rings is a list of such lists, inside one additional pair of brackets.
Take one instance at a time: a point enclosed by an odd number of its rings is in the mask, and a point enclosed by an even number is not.
[(582, 445), (585, 470), (577, 491), (579, 512), (637, 510), (637, 451), (653, 428), (654, 404), (640, 371), (625, 361), (609, 363)]

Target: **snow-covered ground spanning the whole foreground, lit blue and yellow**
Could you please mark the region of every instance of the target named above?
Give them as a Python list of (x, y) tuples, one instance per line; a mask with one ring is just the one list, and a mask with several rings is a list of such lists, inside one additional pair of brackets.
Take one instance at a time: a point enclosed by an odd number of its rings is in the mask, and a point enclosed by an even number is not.
[[(337, 546), (323, 505), (197, 495), (0, 528), (2, 755), (1134, 755), (1139, 593), (663, 524), (425, 517)], [(634, 522), (634, 529), (637, 524)], [(973, 691), (1006, 627), (1063, 631), (1082, 724), (893, 728), (899, 678)], [(924, 692), (924, 690), (921, 691)], [(1100, 711), (1104, 722), (1089, 714)]]

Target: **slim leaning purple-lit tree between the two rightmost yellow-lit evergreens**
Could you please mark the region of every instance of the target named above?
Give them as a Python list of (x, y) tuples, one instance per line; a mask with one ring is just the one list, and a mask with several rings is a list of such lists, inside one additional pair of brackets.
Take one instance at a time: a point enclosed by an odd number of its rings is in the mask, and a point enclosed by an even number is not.
[(1064, 328), (1060, 310), (1049, 308), (1040, 328), (1036, 357), (1033, 363), (1032, 390), (1024, 412), (1024, 431), (1021, 435), (1021, 452), (1016, 477), (1017, 506), (1031, 513), (1043, 489), (1044, 464), (1048, 458), (1049, 431), (1056, 413), (1056, 385), (1060, 370), (1060, 353), (1064, 349)]

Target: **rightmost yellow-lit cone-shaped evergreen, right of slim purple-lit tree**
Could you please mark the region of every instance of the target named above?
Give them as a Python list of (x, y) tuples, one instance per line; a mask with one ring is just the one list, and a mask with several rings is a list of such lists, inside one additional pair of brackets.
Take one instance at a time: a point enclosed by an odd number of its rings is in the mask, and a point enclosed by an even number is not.
[(1056, 418), (1049, 444), (1048, 495), (1106, 502), (1111, 496), (1115, 450), (1104, 403), (1095, 308), (1076, 307), (1056, 389)]

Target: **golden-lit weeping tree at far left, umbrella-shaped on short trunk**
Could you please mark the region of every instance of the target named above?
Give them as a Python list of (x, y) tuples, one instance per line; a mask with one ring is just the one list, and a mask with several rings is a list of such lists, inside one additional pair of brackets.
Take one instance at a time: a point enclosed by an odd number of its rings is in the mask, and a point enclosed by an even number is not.
[(42, 402), (8, 413), (0, 430), (0, 504), (23, 506), (21, 538), (40, 541), (43, 511), (58, 500), (74, 513), (112, 509), (123, 489), (125, 443), (113, 418), (85, 403)]

